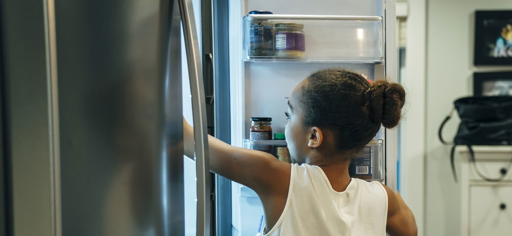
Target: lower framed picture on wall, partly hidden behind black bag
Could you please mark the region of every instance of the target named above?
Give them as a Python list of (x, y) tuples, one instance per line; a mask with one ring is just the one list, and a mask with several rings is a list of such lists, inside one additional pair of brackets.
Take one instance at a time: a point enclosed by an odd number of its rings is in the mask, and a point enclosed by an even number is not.
[(473, 74), (475, 96), (512, 96), (512, 71)]

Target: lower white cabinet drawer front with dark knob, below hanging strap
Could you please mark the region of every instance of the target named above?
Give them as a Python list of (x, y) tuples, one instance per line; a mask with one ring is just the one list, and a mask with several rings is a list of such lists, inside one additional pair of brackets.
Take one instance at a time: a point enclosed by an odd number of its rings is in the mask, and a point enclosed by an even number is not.
[(510, 235), (512, 186), (474, 186), (470, 191), (470, 235)]

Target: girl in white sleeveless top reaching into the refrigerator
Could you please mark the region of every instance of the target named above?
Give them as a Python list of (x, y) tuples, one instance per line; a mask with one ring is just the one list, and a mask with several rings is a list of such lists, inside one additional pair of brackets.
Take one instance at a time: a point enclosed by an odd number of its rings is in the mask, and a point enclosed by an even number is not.
[[(257, 235), (417, 235), (398, 193), (348, 173), (351, 158), (381, 125), (398, 124), (405, 95), (397, 83), (319, 70), (288, 100), (285, 134), (294, 164), (210, 136), (211, 171), (257, 192), (265, 212)], [(185, 122), (184, 132), (185, 155), (193, 157), (193, 127)]]

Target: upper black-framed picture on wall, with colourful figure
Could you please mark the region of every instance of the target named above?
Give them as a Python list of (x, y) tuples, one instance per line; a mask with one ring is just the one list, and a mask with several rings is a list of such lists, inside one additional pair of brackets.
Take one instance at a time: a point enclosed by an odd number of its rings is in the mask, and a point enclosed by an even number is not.
[(475, 16), (475, 65), (512, 65), (512, 10)]

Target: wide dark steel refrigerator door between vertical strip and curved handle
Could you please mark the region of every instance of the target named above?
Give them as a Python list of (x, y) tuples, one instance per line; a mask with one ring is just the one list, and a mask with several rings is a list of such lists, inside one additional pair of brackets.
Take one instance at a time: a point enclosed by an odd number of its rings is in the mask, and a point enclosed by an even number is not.
[(63, 235), (183, 235), (178, 14), (56, 2)]

